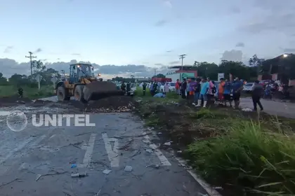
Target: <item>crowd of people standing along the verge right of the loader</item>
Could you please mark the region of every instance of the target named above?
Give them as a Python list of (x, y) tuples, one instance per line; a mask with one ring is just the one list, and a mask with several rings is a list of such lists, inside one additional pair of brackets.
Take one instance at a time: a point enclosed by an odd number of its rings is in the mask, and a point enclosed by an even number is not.
[[(204, 108), (208, 103), (222, 104), (227, 106), (232, 102), (234, 108), (237, 109), (240, 106), (240, 97), (245, 81), (235, 78), (234, 80), (227, 80), (221, 78), (220, 83), (215, 85), (214, 80), (210, 78), (195, 78), (195, 79), (183, 79), (176, 80), (176, 94), (181, 96), (182, 99), (188, 99), (192, 101), (192, 104), (196, 107), (203, 106)], [(165, 83), (164, 92), (160, 92), (162, 83), (151, 83), (150, 93), (154, 97), (165, 97), (166, 92), (169, 92), (169, 84)], [(147, 84), (143, 84), (143, 93), (145, 94)], [(254, 110), (257, 110), (257, 104), (261, 111), (263, 106), (260, 102), (263, 92), (262, 85), (258, 81), (254, 83), (253, 90), (251, 92), (252, 101), (254, 104)]]

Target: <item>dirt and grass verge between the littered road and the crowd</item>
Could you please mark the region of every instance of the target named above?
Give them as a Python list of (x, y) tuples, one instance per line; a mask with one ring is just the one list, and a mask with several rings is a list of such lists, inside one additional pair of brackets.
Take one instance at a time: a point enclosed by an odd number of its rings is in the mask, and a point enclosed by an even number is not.
[(222, 195), (295, 193), (288, 170), (295, 167), (295, 120), (151, 97), (138, 97), (136, 109)]

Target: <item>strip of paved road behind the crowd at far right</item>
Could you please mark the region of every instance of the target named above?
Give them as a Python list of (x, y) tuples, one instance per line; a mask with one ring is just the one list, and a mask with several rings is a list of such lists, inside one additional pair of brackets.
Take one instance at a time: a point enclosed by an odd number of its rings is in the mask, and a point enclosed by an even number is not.
[[(284, 116), (286, 118), (295, 118), (295, 104), (288, 102), (274, 102), (270, 100), (261, 99), (263, 110), (266, 113), (277, 116)], [(242, 108), (253, 109), (251, 98), (241, 98), (240, 106)]]

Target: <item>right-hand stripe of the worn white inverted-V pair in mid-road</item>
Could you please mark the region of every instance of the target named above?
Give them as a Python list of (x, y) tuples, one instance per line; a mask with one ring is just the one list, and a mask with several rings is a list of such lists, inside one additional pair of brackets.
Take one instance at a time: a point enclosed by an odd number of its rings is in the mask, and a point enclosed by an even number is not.
[[(107, 137), (106, 133), (103, 133), (103, 141), (105, 142), (105, 151), (107, 151), (107, 157), (110, 160), (111, 167), (119, 167), (119, 142), (116, 138)], [(114, 142), (114, 148), (112, 149), (111, 142)]]

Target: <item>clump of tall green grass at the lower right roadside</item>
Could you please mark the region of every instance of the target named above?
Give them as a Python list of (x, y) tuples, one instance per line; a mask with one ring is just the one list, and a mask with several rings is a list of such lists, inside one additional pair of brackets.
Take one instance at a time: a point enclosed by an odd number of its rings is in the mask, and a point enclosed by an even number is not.
[(295, 195), (294, 136), (241, 122), (226, 135), (190, 144), (188, 154), (192, 165), (215, 185), (254, 195)]

